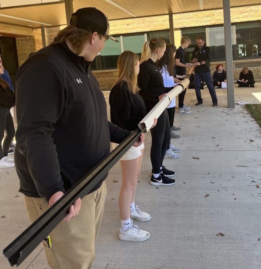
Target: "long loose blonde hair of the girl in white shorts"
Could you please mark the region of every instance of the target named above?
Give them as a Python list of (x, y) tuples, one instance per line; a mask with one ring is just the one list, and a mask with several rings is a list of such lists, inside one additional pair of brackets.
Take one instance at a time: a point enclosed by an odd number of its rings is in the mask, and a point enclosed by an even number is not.
[(137, 86), (137, 73), (135, 68), (138, 60), (139, 56), (132, 51), (123, 51), (123, 53), (120, 54), (117, 60), (118, 79), (112, 87), (125, 80), (132, 94), (136, 94), (136, 92), (140, 90)]

